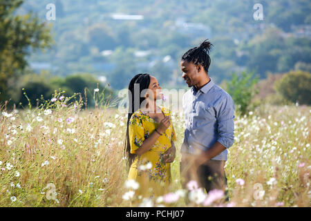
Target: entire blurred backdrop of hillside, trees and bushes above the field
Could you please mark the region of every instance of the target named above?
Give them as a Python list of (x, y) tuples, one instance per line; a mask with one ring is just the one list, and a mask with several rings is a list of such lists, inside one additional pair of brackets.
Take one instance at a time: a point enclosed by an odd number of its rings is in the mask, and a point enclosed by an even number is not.
[(24, 92), (36, 104), (59, 88), (116, 96), (137, 73), (187, 88), (180, 57), (210, 39), (209, 77), (242, 111), (310, 105), (310, 12), (309, 0), (0, 0), (0, 102), (21, 108)]

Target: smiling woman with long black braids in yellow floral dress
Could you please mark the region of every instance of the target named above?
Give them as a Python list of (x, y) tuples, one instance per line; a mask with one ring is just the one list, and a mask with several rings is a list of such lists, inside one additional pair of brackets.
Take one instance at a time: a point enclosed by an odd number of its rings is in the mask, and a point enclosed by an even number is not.
[(156, 77), (149, 74), (135, 75), (129, 84), (125, 151), (129, 180), (140, 184), (136, 194), (144, 197), (163, 195), (168, 191), (171, 162), (176, 154), (171, 112), (156, 105), (156, 100), (162, 98), (160, 92)]

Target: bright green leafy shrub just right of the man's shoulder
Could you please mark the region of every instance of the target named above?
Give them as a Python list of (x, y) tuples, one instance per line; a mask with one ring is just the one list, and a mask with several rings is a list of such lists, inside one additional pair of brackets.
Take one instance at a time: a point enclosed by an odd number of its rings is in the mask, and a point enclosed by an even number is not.
[(254, 77), (254, 71), (247, 73), (243, 71), (240, 76), (232, 74), (231, 81), (225, 81), (227, 93), (234, 99), (236, 111), (245, 115), (252, 110), (252, 98), (258, 93), (255, 84), (258, 82), (258, 76)]

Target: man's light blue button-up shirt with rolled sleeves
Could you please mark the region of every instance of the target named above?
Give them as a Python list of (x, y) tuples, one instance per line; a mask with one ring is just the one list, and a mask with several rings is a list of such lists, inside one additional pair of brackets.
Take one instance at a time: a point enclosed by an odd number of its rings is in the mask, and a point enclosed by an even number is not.
[(211, 79), (198, 91), (194, 86), (188, 90), (182, 97), (182, 108), (186, 129), (181, 151), (197, 154), (220, 142), (226, 149), (211, 160), (227, 160), (227, 148), (234, 143), (232, 97)]

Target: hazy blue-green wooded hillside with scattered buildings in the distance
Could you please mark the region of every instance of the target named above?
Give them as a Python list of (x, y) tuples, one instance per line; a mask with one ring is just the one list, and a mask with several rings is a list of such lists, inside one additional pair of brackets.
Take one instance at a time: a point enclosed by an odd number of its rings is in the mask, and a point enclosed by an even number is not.
[[(209, 75), (218, 83), (245, 68), (264, 79), (311, 66), (308, 0), (31, 0), (18, 13), (32, 10), (46, 19), (48, 3), (56, 6), (56, 20), (46, 20), (56, 44), (29, 57), (37, 72), (92, 73), (116, 89), (147, 72), (162, 85), (183, 86), (180, 57), (207, 38), (214, 44)], [(263, 20), (254, 19), (255, 3)]]

